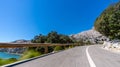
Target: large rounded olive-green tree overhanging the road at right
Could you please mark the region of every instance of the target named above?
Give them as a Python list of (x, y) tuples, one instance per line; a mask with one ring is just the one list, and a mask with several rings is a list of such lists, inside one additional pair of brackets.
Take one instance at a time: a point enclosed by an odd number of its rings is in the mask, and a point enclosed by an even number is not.
[(110, 5), (96, 19), (95, 29), (110, 39), (120, 39), (120, 2)]

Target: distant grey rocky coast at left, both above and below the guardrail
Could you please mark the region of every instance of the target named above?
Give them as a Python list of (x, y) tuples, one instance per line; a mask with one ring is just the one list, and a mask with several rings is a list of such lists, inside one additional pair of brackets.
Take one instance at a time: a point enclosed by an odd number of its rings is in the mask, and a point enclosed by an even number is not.
[[(11, 43), (31, 43), (29, 40), (16, 40)], [(16, 53), (16, 54), (22, 54), (26, 48), (0, 48), (0, 52), (8, 52), (8, 53)]]

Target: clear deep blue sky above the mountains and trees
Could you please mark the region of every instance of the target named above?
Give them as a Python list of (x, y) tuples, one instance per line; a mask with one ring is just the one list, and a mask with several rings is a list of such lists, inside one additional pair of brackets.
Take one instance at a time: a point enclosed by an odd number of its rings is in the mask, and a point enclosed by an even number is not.
[(57, 31), (76, 34), (118, 0), (0, 0), (0, 42), (32, 39)]

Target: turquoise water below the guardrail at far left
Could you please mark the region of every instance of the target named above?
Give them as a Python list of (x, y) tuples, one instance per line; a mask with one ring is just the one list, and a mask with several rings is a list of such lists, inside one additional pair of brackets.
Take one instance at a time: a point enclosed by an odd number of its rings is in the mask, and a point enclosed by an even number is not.
[(18, 58), (20, 58), (20, 55), (0, 52), (0, 58), (2, 58), (2, 59), (9, 59), (9, 58), (18, 59)]

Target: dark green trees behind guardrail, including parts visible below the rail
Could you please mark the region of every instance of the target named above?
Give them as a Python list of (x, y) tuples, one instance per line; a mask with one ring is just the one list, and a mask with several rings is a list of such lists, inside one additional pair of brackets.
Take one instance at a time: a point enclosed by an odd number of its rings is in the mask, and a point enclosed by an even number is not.
[[(48, 33), (48, 35), (37, 35), (35, 36), (32, 40), (32, 43), (73, 43), (73, 41), (69, 38), (69, 36), (67, 35), (63, 35), (63, 34), (58, 34), (56, 31), (51, 31), (50, 33)], [(54, 46), (50, 46), (48, 47), (48, 52), (52, 52), (54, 50)], [(56, 47), (57, 49), (57, 47)], [(61, 49), (61, 47), (60, 47)], [(45, 52), (45, 47), (30, 47), (28, 50), (34, 50), (34, 51), (38, 51), (41, 52), (42, 54), (44, 54)]]

